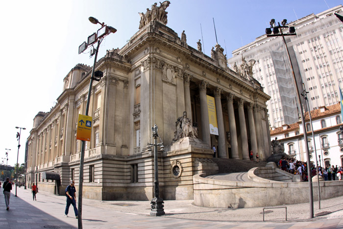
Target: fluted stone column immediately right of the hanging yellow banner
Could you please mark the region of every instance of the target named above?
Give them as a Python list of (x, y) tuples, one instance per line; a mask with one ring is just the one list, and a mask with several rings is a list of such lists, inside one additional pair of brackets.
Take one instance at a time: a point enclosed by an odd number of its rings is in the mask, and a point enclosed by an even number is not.
[(217, 87), (214, 90), (216, 110), (217, 110), (217, 122), (218, 122), (218, 157), (227, 158), (226, 155), (226, 144), (225, 144), (225, 131), (224, 131), (224, 120), (221, 108), (221, 93), (222, 89)]

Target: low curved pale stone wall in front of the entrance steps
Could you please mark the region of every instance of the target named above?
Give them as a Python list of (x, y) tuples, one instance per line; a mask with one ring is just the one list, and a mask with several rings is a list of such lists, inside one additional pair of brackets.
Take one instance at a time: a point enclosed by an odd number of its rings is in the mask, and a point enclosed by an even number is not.
[[(194, 204), (203, 207), (244, 208), (309, 202), (307, 182), (237, 182), (205, 178), (194, 180)], [(262, 178), (261, 178), (262, 179)], [(318, 200), (318, 184), (313, 183), (313, 198)], [(342, 196), (343, 181), (321, 181), (320, 198)]]

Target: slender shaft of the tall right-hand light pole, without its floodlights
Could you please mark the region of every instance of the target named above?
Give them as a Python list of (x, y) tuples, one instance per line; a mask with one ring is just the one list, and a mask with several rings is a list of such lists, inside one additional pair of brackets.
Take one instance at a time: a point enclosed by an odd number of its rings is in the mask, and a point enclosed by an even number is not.
[[(279, 27), (280, 27), (280, 23)], [(304, 139), (305, 139), (305, 150), (306, 150), (306, 157), (307, 157), (307, 174), (308, 174), (308, 182), (309, 182), (309, 201), (310, 201), (310, 218), (313, 218), (313, 190), (312, 190), (312, 179), (310, 178), (311, 176), (311, 161), (310, 161), (310, 153), (309, 153), (309, 146), (307, 144), (307, 132), (306, 132), (306, 126), (305, 126), (305, 118), (304, 118), (304, 112), (302, 110), (302, 106), (301, 106), (301, 101), (300, 101), (300, 94), (299, 94), (299, 88), (298, 88), (298, 84), (296, 83), (296, 78), (295, 78), (295, 74), (294, 74), (294, 69), (293, 69), (293, 64), (292, 64), (292, 60), (291, 60), (291, 55), (290, 52), (288, 51), (288, 47), (287, 47), (287, 43), (285, 40), (285, 36), (282, 32), (282, 28), (280, 27), (280, 32), (281, 32), (281, 36), (282, 36), (282, 40), (283, 43), (285, 44), (286, 47), (286, 51), (287, 51), (287, 56), (288, 59), (290, 60), (290, 64), (291, 64), (291, 69), (292, 69), (292, 75), (293, 75), (293, 80), (294, 80), (294, 84), (295, 84), (295, 88), (296, 88), (296, 99), (298, 102), (298, 107), (300, 110), (300, 118), (301, 118), (301, 124), (302, 124), (302, 128), (303, 128), (303, 132), (304, 132)]]

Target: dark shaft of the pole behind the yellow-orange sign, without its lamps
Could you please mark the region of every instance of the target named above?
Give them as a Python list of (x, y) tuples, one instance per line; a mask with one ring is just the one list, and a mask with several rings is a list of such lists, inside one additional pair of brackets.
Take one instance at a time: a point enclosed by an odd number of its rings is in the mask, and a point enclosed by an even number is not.
[[(98, 57), (98, 50), (102, 39), (98, 40), (98, 46), (95, 50), (95, 57), (94, 57), (94, 64), (92, 69), (92, 76), (91, 76), (91, 82), (89, 83), (89, 90), (88, 90), (88, 98), (87, 98), (87, 104), (86, 104), (86, 116), (88, 116), (89, 112), (89, 103), (91, 100), (91, 92), (92, 92), (92, 84), (94, 80), (94, 73), (95, 68), (97, 64), (97, 57)], [(81, 157), (80, 157), (80, 171), (79, 171), (79, 178), (78, 178), (78, 228), (82, 229), (82, 188), (83, 188), (83, 164), (84, 164), (84, 158), (85, 158), (85, 141), (81, 142)]]

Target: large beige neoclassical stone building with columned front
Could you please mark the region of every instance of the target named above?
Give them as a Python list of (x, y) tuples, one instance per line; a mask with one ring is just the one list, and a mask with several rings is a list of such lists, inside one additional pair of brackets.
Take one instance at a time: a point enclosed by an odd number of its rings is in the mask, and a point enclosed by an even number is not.
[[(270, 155), (270, 97), (261, 84), (229, 69), (220, 45), (211, 57), (188, 46), (185, 36), (166, 26), (167, 14), (163, 17), (143, 17), (129, 43), (97, 62), (103, 77), (93, 84), (90, 98), (93, 126), (85, 150), (85, 198), (153, 197), (154, 161), (147, 142), (152, 142), (155, 124), (166, 146), (159, 149), (160, 196), (166, 200), (193, 199), (193, 175), (218, 170), (211, 160), (213, 145), (220, 158), (247, 160), (250, 150), (262, 159)], [(74, 179), (77, 188), (77, 116), (85, 113), (90, 77), (91, 67), (77, 64), (64, 78), (57, 104), (35, 116), (27, 139), (28, 185), (35, 182), (40, 190), (63, 195)], [(214, 117), (209, 117), (206, 96), (215, 98), (218, 135), (210, 132)], [(173, 141), (175, 122), (184, 111), (198, 138)], [(49, 177), (51, 172), (57, 178)]]

